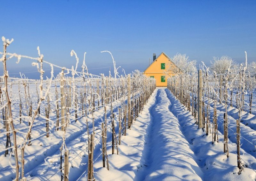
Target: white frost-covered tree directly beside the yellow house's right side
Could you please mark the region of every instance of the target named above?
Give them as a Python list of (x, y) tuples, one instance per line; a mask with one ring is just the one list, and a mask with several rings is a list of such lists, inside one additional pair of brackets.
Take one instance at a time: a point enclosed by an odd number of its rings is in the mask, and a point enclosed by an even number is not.
[[(196, 60), (189, 60), (186, 54), (177, 53), (171, 58), (172, 61), (169, 62), (167, 72), (192, 74), (196, 72)], [(176, 66), (173, 65), (175, 63)]]

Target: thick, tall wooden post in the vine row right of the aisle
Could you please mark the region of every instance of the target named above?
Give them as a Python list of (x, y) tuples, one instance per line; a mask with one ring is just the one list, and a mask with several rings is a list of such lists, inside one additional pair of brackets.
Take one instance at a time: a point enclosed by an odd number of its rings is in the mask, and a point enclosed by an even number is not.
[(203, 127), (202, 121), (202, 70), (198, 70), (198, 128)]

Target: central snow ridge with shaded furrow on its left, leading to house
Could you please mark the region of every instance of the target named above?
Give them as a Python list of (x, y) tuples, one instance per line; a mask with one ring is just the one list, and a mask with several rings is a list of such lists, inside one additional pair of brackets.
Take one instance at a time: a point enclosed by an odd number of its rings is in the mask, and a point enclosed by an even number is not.
[(180, 131), (178, 119), (164, 89), (158, 89), (156, 104), (150, 108), (151, 121), (143, 150), (144, 169), (135, 180), (202, 180), (194, 152)]

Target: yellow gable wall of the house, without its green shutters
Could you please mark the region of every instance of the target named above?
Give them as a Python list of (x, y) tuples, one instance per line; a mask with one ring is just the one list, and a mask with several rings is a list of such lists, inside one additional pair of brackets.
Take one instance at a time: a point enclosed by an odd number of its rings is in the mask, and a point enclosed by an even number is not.
[[(165, 69), (161, 69), (161, 63), (165, 63)], [(167, 78), (173, 75), (172, 73), (167, 73), (169, 64), (173, 65), (172, 62), (170, 62), (169, 59), (162, 53), (144, 71), (144, 74), (146, 76), (154, 76), (156, 79), (156, 86), (167, 86)], [(161, 76), (165, 76), (165, 82), (161, 82)]]

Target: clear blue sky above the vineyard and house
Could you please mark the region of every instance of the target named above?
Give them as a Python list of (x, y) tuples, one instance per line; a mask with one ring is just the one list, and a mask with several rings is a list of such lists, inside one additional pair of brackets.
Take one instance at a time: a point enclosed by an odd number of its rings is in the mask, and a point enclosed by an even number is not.
[[(256, 1), (0, 0), (0, 36), (14, 39), (9, 52), (37, 56), (39, 46), (44, 60), (60, 66), (75, 65), (72, 49), (81, 66), (86, 51), (93, 74), (108, 75), (108, 68), (95, 68), (113, 67), (103, 50), (112, 52), (126, 73), (143, 71), (149, 57), (162, 51), (206, 64), (222, 55), (241, 62), (247, 51), (249, 61), (256, 61), (255, 10)], [(14, 62), (7, 64), (10, 76), (36, 71), (31, 61)]]

